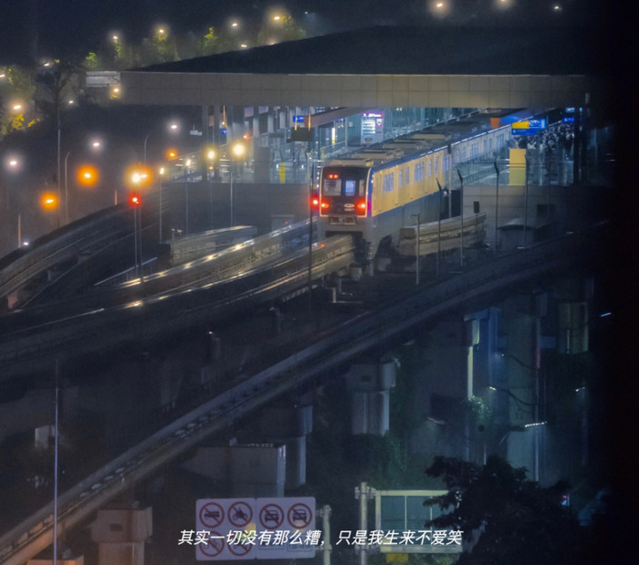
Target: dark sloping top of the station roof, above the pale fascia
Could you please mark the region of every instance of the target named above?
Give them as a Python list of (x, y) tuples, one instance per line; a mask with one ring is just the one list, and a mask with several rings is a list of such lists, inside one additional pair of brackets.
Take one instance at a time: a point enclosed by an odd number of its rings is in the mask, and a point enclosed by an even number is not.
[(166, 73), (600, 75), (590, 27), (376, 26), (135, 69)]

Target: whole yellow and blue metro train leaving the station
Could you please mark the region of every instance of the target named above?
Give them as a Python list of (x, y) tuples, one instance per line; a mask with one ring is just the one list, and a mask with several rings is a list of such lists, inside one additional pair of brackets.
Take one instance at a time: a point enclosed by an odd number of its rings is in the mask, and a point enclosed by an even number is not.
[(487, 174), (494, 172), (494, 160), (511, 143), (512, 122), (531, 115), (529, 109), (477, 111), (325, 162), (312, 202), (319, 237), (351, 234), (358, 261), (374, 267), (417, 214), (423, 223), (441, 219), (442, 193), (458, 193), (447, 187), (459, 164), (483, 162)]

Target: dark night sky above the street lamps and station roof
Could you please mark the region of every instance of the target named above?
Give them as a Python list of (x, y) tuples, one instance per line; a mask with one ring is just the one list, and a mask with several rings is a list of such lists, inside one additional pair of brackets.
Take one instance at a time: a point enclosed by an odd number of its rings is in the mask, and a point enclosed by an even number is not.
[[(270, 7), (283, 6), (309, 32), (329, 33), (374, 24), (435, 24), (431, 0), (11, 0), (0, 18), (0, 64), (24, 63), (35, 51), (40, 57), (66, 57), (95, 50), (114, 31), (132, 42), (148, 37), (154, 24), (175, 34), (204, 34), (229, 16), (242, 16), (259, 26)], [(599, 0), (508, 0), (508, 10), (496, 10), (498, 0), (446, 0), (449, 22), (456, 24), (548, 24), (573, 26), (588, 22), (612, 25), (621, 14)], [(306, 16), (305, 12), (312, 14)]]

